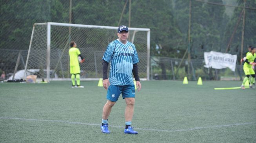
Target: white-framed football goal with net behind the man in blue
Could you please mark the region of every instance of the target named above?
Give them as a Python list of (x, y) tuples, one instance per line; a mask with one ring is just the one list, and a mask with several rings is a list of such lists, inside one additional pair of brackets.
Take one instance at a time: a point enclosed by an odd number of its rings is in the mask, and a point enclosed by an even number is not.
[[(69, 43), (75, 41), (85, 62), (80, 64), (81, 80), (102, 78), (102, 57), (107, 45), (117, 39), (118, 27), (69, 23), (35, 23), (25, 71), (35, 69), (39, 79), (70, 80)], [(141, 79), (149, 80), (150, 29), (129, 28), (129, 41), (140, 58)], [(24, 72), (24, 78), (27, 72)]]

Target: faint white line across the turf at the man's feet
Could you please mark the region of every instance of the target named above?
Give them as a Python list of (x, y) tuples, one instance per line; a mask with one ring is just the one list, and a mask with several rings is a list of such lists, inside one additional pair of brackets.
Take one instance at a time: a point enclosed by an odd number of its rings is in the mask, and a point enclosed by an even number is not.
[[(58, 123), (100, 126), (100, 124), (96, 124), (96, 123), (69, 122), (69, 121), (62, 121), (62, 120), (42, 120), (42, 119), (25, 119), (25, 118), (10, 118), (10, 117), (0, 117), (0, 119), (29, 120), (29, 121), (42, 121), (42, 122), (58, 122)], [(194, 128), (189, 128), (189, 129), (178, 129), (178, 130), (159, 130), (159, 129), (147, 129), (147, 128), (134, 128), (134, 129), (150, 130), (150, 131), (158, 131), (158, 132), (184, 132), (184, 131), (190, 131), (190, 130), (222, 128), (222, 127), (232, 127), (232, 126), (251, 125), (251, 124), (255, 124), (255, 122), (234, 123), (234, 124), (227, 124), (227, 125), (213, 125), (213, 126), (207, 126), (207, 127), (194, 127)], [(123, 128), (123, 126), (115, 126), (115, 125), (109, 125), (109, 127)]]

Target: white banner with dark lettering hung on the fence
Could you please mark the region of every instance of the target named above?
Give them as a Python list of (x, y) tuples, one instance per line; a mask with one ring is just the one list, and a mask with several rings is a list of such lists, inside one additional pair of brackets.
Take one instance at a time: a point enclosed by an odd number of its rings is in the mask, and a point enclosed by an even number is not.
[(225, 54), (220, 52), (204, 52), (205, 68), (230, 68), (236, 70), (237, 55)]

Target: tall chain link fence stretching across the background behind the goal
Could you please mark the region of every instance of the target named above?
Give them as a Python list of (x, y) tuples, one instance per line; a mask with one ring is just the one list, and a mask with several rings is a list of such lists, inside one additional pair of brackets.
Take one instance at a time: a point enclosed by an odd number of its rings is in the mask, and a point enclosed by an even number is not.
[[(240, 59), (248, 52), (248, 46), (256, 46), (255, 0), (152, 0), (146, 3), (135, 0), (131, 3), (129, 0), (2, 0), (0, 7), (0, 73), (5, 71), (5, 78), (14, 73), (15, 67), (17, 71), (24, 69), (33, 24), (49, 21), (115, 27), (130, 23), (131, 27), (151, 29), (150, 79), (183, 80), (187, 76), (189, 80), (198, 77), (240, 80), (244, 76)], [(90, 38), (94, 34), (89, 35), (86, 31), (81, 35), (74, 35), (70, 40), (78, 41), (85, 57), (91, 55), (90, 59), (96, 57), (99, 62), (106, 45), (98, 46), (100, 50), (92, 50), (90, 47), (95, 43)], [(62, 38), (62, 34), (54, 36)], [(105, 39), (105, 43), (113, 38)], [(68, 52), (63, 48), (68, 40), (63, 39), (60, 43), (52, 43), (51, 55), (55, 57), (52, 61), (58, 65), (51, 64), (51, 70), (57, 67), (58, 77), (66, 78), (69, 67), (64, 60), (68, 59)], [(83, 47), (84, 41), (89, 45)], [(21, 58), (16, 66), (20, 51)], [(210, 51), (237, 55), (236, 71), (204, 68), (203, 52)], [(46, 59), (36, 59), (44, 52), (35, 51), (30, 55), (34, 57), (32, 61), (45, 62)], [(63, 63), (58, 62), (59, 57)], [(32, 69), (33, 64), (29, 68)], [(139, 70), (143, 71), (146, 67), (141, 68)], [(85, 78), (102, 76), (101, 65), (94, 61), (83, 64), (81, 69), (85, 71), (82, 75)], [(42, 75), (42, 70), (39, 73)], [(141, 74), (143, 76), (143, 72)]]

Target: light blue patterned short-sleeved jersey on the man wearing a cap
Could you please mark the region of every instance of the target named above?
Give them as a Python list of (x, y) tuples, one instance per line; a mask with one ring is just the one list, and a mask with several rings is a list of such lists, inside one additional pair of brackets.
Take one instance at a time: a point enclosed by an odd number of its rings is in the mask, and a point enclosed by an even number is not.
[(107, 46), (103, 60), (110, 63), (109, 82), (111, 85), (133, 85), (133, 64), (139, 63), (133, 43), (123, 44), (118, 39)]

